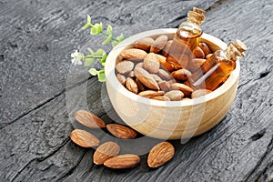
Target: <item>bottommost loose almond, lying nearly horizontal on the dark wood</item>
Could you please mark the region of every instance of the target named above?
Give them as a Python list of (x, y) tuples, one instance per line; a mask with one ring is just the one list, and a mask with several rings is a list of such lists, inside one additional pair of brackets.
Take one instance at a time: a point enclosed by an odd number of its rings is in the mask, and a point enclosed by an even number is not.
[(134, 154), (124, 154), (117, 157), (112, 157), (106, 160), (104, 165), (110, 168), (130, 168), (136, 167), (139, 163), (140, 157)]

